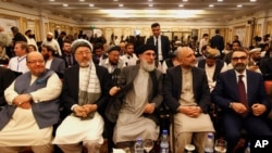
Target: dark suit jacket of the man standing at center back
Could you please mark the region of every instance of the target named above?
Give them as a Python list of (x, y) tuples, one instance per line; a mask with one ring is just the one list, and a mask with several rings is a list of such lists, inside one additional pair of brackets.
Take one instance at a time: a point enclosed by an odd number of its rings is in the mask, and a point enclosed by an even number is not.
[[(154, 39), (153, 36), (149, 37), (147, 39), (147, 43), (153, 44), (154, 46)], [(161, 35), (161, 51), (162, 51), (162, 56), (163, 60), (169, 58), (169, 51), (170, 51), (170, 41), (166, 36)], [(156, 51), (157, 58), (158, 58), (158, 51)]]

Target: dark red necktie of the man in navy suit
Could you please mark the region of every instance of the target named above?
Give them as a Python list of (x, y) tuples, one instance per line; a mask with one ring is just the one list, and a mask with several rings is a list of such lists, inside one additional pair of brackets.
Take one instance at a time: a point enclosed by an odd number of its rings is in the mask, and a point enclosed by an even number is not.
[[(239, 75), (238, 76), (238, 91), (239, 91), (239, 101), (246, 106), (248, 107), (247, 105), (247, 94), (246, 94), (246, 88), (245, 88), (245, 84), (243, 81), (243, 78), (244, 75)], [(248, 112), (242, 114), (244, 117), (247, 116)]]

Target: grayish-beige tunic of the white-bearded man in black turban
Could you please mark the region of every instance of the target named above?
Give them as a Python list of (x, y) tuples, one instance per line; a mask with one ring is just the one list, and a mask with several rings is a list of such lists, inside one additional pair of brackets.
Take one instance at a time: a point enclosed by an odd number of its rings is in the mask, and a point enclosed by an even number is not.
[(144, 106), (148, 103), (149, 73), (139, 68), (133, 89), (124, 98), (114, 128), (113, 142), (136, 140), (136, 138), (157, 140), (159, 126), (144, 117)]

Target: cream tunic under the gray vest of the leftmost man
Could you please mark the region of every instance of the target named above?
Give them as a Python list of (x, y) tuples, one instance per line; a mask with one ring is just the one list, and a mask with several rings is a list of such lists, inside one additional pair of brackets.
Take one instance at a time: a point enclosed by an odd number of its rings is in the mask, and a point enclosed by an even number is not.
[[(30, 84), (36, 79), (36, 76), (32, 76)], [(18, 95), (14, 91), (14, 82), (5, 90), (5, 98), (10, 105), (12, 100)], [(58, 75), (52, 74), (48, 78), (46, 88), (30, 93), (34, 102), (45, 102), (58, 98), (61, 93), (61, 88), (62, 82)], [(34, 117), (33, 109), (16, 107), (10, 122), (0, 130), (0, 146), (42, 145), (50, 143), (51, 139), (52, 126), (40, 129)]]

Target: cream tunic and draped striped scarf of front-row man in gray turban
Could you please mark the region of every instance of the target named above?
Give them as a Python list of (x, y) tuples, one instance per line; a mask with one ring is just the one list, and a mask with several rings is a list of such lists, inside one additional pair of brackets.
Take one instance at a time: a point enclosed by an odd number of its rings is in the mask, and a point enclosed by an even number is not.
[[(101, 95), (101, 87), (96, 75), (96, 66), (79, 68), (78, 105), (92, 104)], [(74, 144), (82, 141), (97, 141), (103, 143), (103, 118), (94, 112), (81, 118), (73, 113), (58, 127), (53, 143)]]

